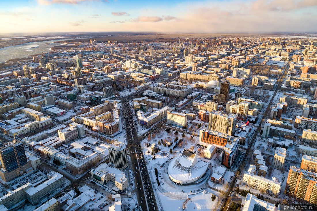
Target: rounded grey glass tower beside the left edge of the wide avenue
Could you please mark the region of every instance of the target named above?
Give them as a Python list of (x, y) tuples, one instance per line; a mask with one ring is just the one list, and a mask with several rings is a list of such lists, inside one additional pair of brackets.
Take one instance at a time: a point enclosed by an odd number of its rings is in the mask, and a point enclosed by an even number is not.
[(109, 162), (120, 170), (128, 166), (126, 144), (120, 141), (109, 144)]

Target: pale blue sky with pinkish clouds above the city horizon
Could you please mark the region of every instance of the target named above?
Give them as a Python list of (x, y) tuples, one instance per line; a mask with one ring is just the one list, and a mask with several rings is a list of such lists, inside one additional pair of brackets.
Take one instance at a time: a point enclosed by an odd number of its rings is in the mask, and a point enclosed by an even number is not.
[(316, 0), (2, 0), (3, 33), (317, 31)]

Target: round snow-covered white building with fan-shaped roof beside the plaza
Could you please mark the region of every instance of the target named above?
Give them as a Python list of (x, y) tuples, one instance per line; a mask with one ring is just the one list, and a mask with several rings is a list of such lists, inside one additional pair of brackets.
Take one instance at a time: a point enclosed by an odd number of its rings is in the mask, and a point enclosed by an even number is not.
[(178, 185), (190, 185), (205, 175), (208, 163), (197, 158), (197, 152), (184, 149), (168, 165), (168, 176)]

